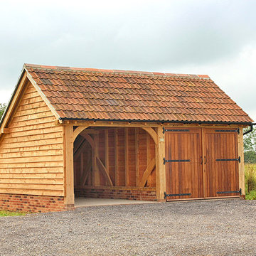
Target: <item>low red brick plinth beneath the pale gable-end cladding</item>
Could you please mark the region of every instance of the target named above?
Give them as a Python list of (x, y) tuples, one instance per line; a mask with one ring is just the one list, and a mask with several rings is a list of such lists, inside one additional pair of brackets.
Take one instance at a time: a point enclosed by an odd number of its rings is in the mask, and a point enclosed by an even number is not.
[(73, 205), (64, 205), (64, 198), (62, 196), (31, 196), (0, 193), (0, 210), (46, 213), (73, 209)]

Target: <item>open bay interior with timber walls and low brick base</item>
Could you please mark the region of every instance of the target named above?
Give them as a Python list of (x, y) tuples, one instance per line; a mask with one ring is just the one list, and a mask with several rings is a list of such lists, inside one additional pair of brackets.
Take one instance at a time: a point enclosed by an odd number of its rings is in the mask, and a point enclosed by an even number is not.
[(151, 201), (155, 195), (155, 143), (144, 129), (88, 127), (73, 152), (75, 199)]

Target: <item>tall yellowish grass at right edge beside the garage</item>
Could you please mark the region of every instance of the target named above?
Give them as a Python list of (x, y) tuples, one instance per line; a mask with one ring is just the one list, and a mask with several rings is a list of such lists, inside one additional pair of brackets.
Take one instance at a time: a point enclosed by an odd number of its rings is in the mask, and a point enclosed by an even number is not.
[(245, 199), (256, 200), (256, 164), (245, 164)]

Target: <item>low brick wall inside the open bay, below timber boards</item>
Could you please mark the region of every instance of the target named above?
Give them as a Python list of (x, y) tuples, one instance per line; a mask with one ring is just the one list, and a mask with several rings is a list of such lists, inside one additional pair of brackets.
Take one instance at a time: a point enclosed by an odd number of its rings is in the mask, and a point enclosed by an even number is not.
[(75, 197), (156, 201), (156, 191), (111, 188), (80, 188), (75, 190)]

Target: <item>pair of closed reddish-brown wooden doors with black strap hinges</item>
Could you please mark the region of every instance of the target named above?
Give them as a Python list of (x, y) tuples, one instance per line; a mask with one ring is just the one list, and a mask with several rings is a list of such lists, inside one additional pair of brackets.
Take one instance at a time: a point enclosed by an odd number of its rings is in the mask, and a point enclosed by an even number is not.
[(169, 199), (239, 196), (238, 131), (165, 130), (164, 161)]

